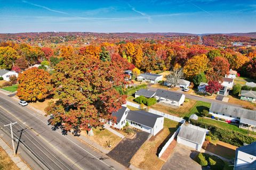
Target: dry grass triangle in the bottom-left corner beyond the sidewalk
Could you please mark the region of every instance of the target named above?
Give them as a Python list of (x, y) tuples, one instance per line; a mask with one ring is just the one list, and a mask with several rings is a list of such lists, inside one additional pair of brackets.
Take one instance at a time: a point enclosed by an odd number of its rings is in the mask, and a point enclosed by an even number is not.
[(18, 170), (19, 168), (17, 167), (16, 164), (14, 164), (11, 160), (11, 158), (7, 155), (5, 150), (0, 147), (0, 169), (1, 170)]

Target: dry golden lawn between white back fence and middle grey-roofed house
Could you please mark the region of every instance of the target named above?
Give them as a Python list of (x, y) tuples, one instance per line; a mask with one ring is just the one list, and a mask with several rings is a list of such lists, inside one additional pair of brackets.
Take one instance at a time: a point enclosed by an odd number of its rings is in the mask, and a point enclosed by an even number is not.
[(179, 108), (174, 108), (162, 104), (155, 104), (153, 106), (150, 106), (150, 108), (155, 109), (156, 111), (164, 112), (170, 115), (178, 116), (178, 117), (183, 117), (187, 115), (190, 110), (195, 106), (196, 100), (192, 99), (187, 99), (189, 102), (184, 102), (182, 106)]

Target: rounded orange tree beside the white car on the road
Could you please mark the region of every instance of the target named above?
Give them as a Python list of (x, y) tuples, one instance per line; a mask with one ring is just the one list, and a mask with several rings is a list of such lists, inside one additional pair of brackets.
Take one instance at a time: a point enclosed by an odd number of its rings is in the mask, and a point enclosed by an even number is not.
[(43, 100), (51, 89), (50, 74), (36, 67), (20, 73), (18, 82), (17, 96), (25, 101)]

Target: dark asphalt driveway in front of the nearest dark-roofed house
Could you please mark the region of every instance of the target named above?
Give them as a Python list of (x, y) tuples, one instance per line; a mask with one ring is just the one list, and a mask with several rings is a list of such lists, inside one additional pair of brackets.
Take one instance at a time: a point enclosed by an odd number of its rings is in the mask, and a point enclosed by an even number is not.
[(118, 163), (129, 167), (130, 160), (132, 159), (133, 155), (140, 149), (140, 147), (149, 137), (149, 133), (147, 132), (135, 132), (137, 135), (134, 139), (124, 138), (107, 155), (110, 158), (115, 159)]

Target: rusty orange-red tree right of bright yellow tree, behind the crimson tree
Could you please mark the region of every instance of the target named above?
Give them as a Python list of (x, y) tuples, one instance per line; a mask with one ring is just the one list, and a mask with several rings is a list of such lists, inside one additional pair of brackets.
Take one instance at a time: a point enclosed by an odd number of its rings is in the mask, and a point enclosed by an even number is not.
[(211, 67), (206, 73), (208, 80), (220, 81), (229, 72), (228, 60), (223, 57), (215, 57), (209, 64)]

